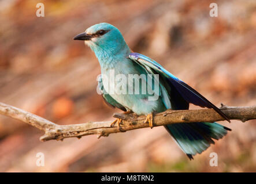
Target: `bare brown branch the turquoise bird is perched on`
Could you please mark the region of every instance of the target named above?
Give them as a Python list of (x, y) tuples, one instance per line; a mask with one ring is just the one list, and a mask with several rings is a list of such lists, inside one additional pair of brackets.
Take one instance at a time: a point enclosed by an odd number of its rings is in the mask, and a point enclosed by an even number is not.
[[(256, 119), (256, 106), (225, 106), (221, 104), (221, 111), (226, 114), (230, 120), (241, 120), (242, 122)], [(26, 112), (25, 110), (15, 108), (0, 102), (0, 114), (12, 117), (16, 120), (23, 121), (33, 127), (44, 131), (44, 135), (40, 137), (41, 141), (51, 139), (63, 140), (68, 137), (98, 134), (98, 137), (108, 136), (110, 133), (123, 131), (131, 131), (138, 128), (147, 128), (149, 124), (145, 124), (146, 116), (137, 116), (136, 114), (115, 113), (113, 117), (121, 118), (123, 125), (121, 130), (114, 125), (110, 127), (112, 121), (86, 122), (83, 124), (58, 125), (54, 122), (46, 120), (35, 114)], [(224, 121), (218, 113), (213, 109), (198, 110), (166, 110), (165, 112), (154, 114), (154, 127), (174, 124), (174, 123), (190, 123), (190, 122), (215, 122)], [(122, 131), (123, 130), (123, 131)]]

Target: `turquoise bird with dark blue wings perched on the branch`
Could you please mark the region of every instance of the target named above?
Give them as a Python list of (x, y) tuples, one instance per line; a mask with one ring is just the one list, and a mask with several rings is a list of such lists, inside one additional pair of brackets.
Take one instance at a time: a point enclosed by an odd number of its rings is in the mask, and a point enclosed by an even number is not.
[[(102, 75), (98, 80), (98, 86), (103, 92), (102, 96), (105, 101), (125, 112), (146, 115), (145, 122), (148, 122), (151, 128), (153, 128), (153, 113), (164, 112), (167, 109), (188, 109), (190, 103), (212, 108), (230, 122), (220, 109), (192, 87), (165, 70), (160, 64), (147, 56), (132, 52), (120, 31), (113, 25), (95, 24), (75, 36), (74, 40), (84, 40), (98, 58)], [(107, 79), (106, 76), (110, 76), (112, 71), (114, 71), (115, 77), (119, 77), (118, 80)], [(129, 78), (130, 75), (141, 76), (140, 82)], [(128, 79), (128, 82), (122, 80), (123, 76)], [(152, 82), (155, 79), (158, 79), (158, 83)], [(135, 82), (139, 82), (139, 93), (128, 93), (131, 92), (129, 89), (132, 89), (132, 92), (136, 90)], [(119, 90), (123, 90), (125, 93), (118, 93), (118, 90), (111, 92), (109, 86), (113, 85), (119, 86)], [(143, 85), (147, 87), (146, 93), (142, 93)], [(155, 95), (151, 92), (155, 91), (157, 87), (157, 98), (149, 100)], [(117, 119), (113, 121), (113, 124), (117, 123), (120, 127), (120, 122), (121, 120)], [(170, 124), (165, 128), (190, 160), (193, 159), (192, 156), (201, 154), (210, 144), (214, 144), (213, 139), (221, 139), (227, 134), (227, 131), (231, 131), (216, 122)]]

